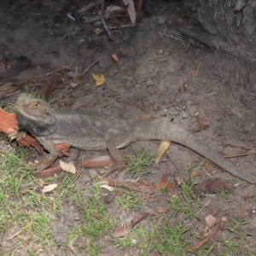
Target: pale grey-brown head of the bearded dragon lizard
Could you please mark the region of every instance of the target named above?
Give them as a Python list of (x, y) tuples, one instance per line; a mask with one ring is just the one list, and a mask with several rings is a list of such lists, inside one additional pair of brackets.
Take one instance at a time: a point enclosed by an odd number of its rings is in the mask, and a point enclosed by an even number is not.
[(15, 106), (18, 119), (20, 117), (27, 121), (30, 120), (32, 123), (40, 126), (52, 125), (54, 123), (52, 113), (55, 110), (42, 99), (38, 99), (30, 94), (21, 93)]

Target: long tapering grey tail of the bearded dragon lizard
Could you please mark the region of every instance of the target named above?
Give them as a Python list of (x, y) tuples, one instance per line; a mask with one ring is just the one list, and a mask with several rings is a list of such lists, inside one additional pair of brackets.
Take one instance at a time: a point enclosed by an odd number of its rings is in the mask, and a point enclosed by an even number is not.
[(173, 143), (183, 145), (192, 149), (197, 154), (201, 154), (207, 160), (211, 160), (212, 163), (224, 169), (224, 171), (229, 172), (231, 175), (247, 181), (247, 183), (256, 183), (256, 176), (251, 175), (250, 170), (239, 170), (229, 160), (224, 159), (221, 154), (218, 154), (215, 148), (211, 148), (201, 137), (196, 137), (177, 125), (159, 121), (142, 122), (137, 126), (135, 134), (139, 135), (137, 140), (169, 140)]

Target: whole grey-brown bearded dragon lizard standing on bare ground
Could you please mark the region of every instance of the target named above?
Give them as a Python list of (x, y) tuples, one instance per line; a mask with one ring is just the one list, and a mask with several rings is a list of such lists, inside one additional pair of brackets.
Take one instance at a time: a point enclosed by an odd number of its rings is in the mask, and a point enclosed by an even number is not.
[(39, 164), (39, 169), (51, 165), (58, 157), (56, 143), (69, 143), (73, 148), (102, 150), (109, 153), (118, 163), (124, 158), (119, 151), (137, 140), (169, 140), (190, 148), (211, 160), (231, 175), (248, 183), (256, 183), (256, 177), (241, 172), (228, 160), (214, 151), (199, 137), (178, 125), (157, 120), (118, 119), (102, 113), (58, 111), (44, 100), (20, 94), (16, 102), (20, 128), (29, 131), (38, 139), (49, 155)]

